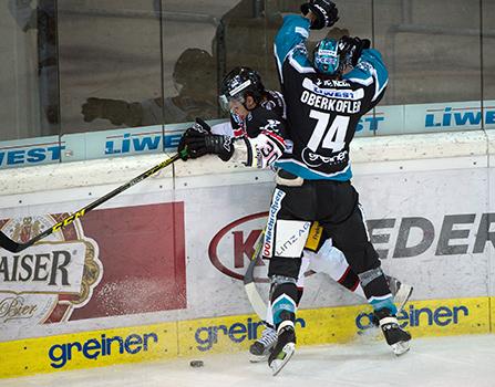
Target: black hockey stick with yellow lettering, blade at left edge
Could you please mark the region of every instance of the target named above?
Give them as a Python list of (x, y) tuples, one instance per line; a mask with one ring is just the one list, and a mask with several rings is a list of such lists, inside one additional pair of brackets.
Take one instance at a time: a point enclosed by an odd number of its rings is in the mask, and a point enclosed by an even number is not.
[(187, 150), (186, 149), (182, 150), (178, 154), (175, 154), (171, 158), (168, 158), (168, 159), (166, 159), (166, 160), (155, 165), (153, 168), (149, 168), (145, 172), (143, 172), (140, 176), (135, 177), (134, 179), (132, 179), (132, 180), (127, 181), (126, 184), (115, 188), (113, 191), (106, 194), (105, 196), (101, 197), (100, 199), (89, 203), (86, 207), (80, 209), (75, 213), (73, 213), (73, 215), (62, 219), (60, 222), (58, 222), (56, 224), (52, 226), (51, 228), (44, 230), (42, 233), (35, 236), (34, 238), (30, 239), (25, 243), (18, 243), (18, 242), (13, 241), (12, 239), (10, 239), (9, 237), (7, 237), (3, 232), (0, 231), (0, 247), (6, 249), (6, 250), (9, 250), (10, 252), (22, 251), (22, 250), (29, 248), (30, 245), (34, 244), (39, 240), (50, 236), (52, 232), (59, 231), (63, 227), (71, 224), (75, 219), (83, 217), (84, 215), (90, 212), (92, 209), (94, 209), (97, 206), (104, 203), (105, 201), (107, 201), (109, 199), (113, 198), (114, 196), (125, 191), (127, 188), (131, 188), (132, 186), (138, 184), (140, 181), (146, 179), (147, 177), (156, 174), (158, 170), (169, 166), (171, 164), (175, 163), (179, 158), (186, 157), (186, 156), (187, 156)]

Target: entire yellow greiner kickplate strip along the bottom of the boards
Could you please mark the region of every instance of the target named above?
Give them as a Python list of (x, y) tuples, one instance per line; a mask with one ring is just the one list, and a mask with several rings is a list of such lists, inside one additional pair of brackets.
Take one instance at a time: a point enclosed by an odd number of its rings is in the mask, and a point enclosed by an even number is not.
[[(489, 325), (494, 321), (489, 307), (494, 301), (487, 297), (414, 301), (398, 317), (413, 337), (486, 334), (495, 328)], [(298, 345), (382, 339), (380, 332), (371, 327), (370, 312), (367, 305), (301, 310), (296, 322)], [(240, 315), (1, 343), (0, 376), (17, 377), (179, 356), (204, 358), (210, 353), (246, 351), (262, 328), (254, 315)]]

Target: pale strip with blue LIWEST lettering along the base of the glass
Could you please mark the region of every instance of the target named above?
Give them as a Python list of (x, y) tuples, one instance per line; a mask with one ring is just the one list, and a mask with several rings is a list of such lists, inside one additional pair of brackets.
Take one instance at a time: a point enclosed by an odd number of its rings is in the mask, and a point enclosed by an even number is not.
[[(216, 125), (226, 119), (212, 119)], [(0, 143), (0, 169), (174, 151), (192, 123), (109, 129)], [(379, 105), (355, 128), (357, 137), (495, 128), (495, 101)]]

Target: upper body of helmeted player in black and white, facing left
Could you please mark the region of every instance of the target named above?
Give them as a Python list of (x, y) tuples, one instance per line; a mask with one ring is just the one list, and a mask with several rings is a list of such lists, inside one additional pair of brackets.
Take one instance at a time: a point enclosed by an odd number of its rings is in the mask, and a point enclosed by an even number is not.
[(187, 147), (188, 158), (213, 154), (247, 167), (272, 166), (287, 146), (280, 93), (266, 91), (256, 71), (236, 67), (224, 80), (220, 104), (231, 112), (234, 136), (214, 134), (196, 119), (183, 135), (179, 151)]

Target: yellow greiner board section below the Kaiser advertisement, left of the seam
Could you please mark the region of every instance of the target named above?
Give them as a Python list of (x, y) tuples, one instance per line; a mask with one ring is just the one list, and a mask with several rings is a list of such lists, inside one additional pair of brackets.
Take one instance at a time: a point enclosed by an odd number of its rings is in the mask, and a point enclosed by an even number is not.
[(176, 357), (175, 323), (0, 343), (0, 378)]

